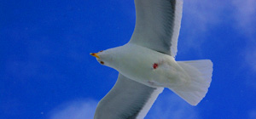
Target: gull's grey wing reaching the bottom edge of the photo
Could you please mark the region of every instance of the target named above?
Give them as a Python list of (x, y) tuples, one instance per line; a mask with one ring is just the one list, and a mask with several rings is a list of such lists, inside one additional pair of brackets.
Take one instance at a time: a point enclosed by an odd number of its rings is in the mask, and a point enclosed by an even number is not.
[(94, 119), (143, 119), (164, 88), (150, 88), (119, 74), (96, 107)]

